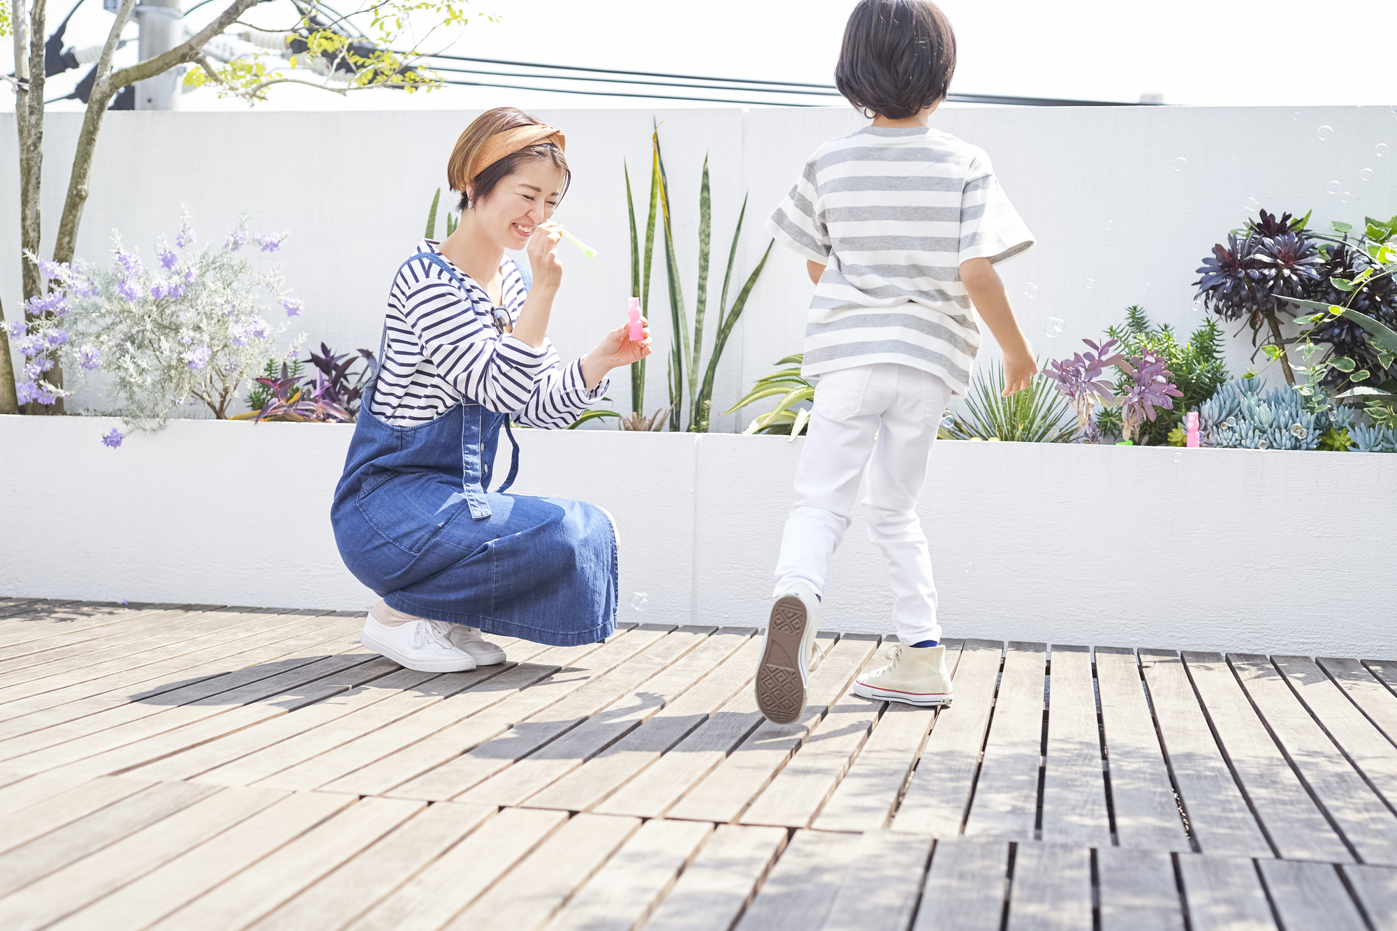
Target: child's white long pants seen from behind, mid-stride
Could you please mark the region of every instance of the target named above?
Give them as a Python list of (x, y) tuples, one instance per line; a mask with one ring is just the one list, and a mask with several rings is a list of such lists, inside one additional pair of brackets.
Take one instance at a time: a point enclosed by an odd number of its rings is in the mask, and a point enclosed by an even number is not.
[(820, 376), (795, 472), (795, 505), (781, 538), (775, 594), (795, 582), (824, 590), (830, 556), (849, 527), (866, 467), (863, 516), (893, 579), (897, 636), (908, 644), (942, 639), (916, 499), (950, 394), (935, 375), (891, 362)]

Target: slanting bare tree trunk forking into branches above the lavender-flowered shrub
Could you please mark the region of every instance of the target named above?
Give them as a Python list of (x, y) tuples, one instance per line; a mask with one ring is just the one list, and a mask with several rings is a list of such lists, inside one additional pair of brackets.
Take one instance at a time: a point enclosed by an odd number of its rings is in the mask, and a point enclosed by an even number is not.
[(78, 133), (77, 151), (73, 154), (73, 175), (68, 178), (68, 194), (63, 203), (63, 218), (59, 221), (59, 239), (53, 246), (54, 261), (73, 261), (77, 249), (78, 225), (82, 222), (82, 207), (88, 199), (88, 180), (92, 176), (92, 157), (96, 154), (96, 137), (102, 131), (102, 117), (106, 116), (106, 106), (127, 84), (144, 81), (162, 74), (176, 64), (187, 64), (203, 59), (204, 45), (215, 35), (232, 25), (246, 10), (257, 6), (260, 0), (235, 0), (217, 20), (190, 36), (182, 45), (169, 52), (162, 52), (154, 59), (138, 62), (120, 71), (108, 74), (112, 67), (112, 53), (116, 52), (116, 42), (136, 0), (123, 0), (122, 8), (108, 34), (106, 46), (96, 64), (96, 82), (92, 85), (92, 95), (88, 98), (87, 113), (82, 116), (82, 131)]

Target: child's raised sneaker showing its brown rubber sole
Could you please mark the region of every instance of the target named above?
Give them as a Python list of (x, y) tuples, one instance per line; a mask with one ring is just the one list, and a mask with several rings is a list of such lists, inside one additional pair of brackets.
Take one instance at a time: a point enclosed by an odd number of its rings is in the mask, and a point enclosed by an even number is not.
[(819, 629), (820, 598), (810, 586), (798, 582), (771, 605), (754, 681), (757, 707), (768, 721), (789, 724), (805, 710)]

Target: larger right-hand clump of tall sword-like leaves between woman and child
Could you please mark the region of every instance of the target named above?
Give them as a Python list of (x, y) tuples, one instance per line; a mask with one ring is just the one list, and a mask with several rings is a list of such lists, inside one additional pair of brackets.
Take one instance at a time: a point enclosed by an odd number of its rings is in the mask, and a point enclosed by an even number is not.
[(718, 331), (714, 334), (712, 352), (708, 356), (708, 366), (698, 379), (703, 355), (704, 316), (708, 302), (708, 256), (712, 236), (712, 199), (708, 189), (708, 158), (703, 159), (703, 180), (698, 187), (698, 291), (694, 298), (693, 334), (689, 333), (689, 319), (685, 315), (685, 295), (679, 284), (679, 259), (675, 252), (673, 211), (669, 204), (669, 182), (665, 175), (665, 159), (659, 151), (659, 123), (655, 123), (651, 134), (654, 150), (651, 185), (659, 193), (659, 211), (664, 221), (665, 233), (665, 277), (669, 284), (669, 320), (673, 326), (669, 352), (669, 429), (683, 428), (685, 389), (689, 390), (689, 432), (708, 432), (708, 410), (712, 404), (712, 382), (718, 372), (718, 361), (722, 349), (728, 344), (732, 327), (742, 316), (753, 285), (766, 268), (767, 257), (775, 239), (767, 243), (767, 250), (761, 253), (761, 261), (747, 277), (746, 284), (728, 306), (728, 287), (732, 282), (732, 267), (738, 261), (738, 240), (742, 236), (742, 221), (747, 214), (747, 199), (742, 199), (742, 211), (738, 214), (738, 228), (732, 233), (732, 249), (728, 252), (728, 268), (722, 278), (722, 296), (718, 299)]

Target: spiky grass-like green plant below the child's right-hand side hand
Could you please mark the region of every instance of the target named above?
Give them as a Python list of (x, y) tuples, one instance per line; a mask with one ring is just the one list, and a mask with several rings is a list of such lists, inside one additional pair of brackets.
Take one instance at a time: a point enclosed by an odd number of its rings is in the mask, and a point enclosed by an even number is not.
[(1011, 443), (1070, 443), (1077, 417), (1052, 379), (1035, 376), (1023, 391), (1003, 397), (1004, 366), (999, 362), (975, 373), (965, 397), (965, 417), (951, 417), (937, 431), (940, 439), (1004, 440)]

